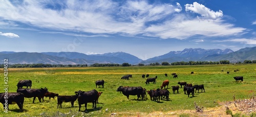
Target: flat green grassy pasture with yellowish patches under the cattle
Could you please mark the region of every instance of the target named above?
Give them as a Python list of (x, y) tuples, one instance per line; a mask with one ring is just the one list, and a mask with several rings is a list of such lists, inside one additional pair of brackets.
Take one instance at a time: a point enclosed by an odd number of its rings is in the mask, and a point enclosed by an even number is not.
[[(239, 69), (238, 72), (233, 72)], [(224, 72), (221, 72), (221, 71)], [(194, 71), (194, 75), (190, 72)], [(226, 72), (229, 71), (230, 74)], [(184, 66), (130, 66), (130, 67), (57, 67), (57, 68), (8, 68), (8, 92), (16, 92), (19, 80), (32, 80), (32, 88), (47, 87), (50, 92), (59, 95), (75, 95), (78, 90), (102, 91), (97, 108), (92, 108), (92, 103), (88, 103), (89, 113), (77, 112), (78, 102), (71, 108), (71, 103), (63, 102), (63, 108), (57, 108), (57, 98), (39, 103), (36, 98), (25, 98), (24, 112), (18, 112), (17, 105), (9, 105), (8, 113), (4, 112), (1, 104), (0, 116), (110, 116), (117, 113), (118, 116), (136, 116), (138, 113), (150, 113), (152, 111), (175, 111), (175, 110), (195, 110), (194, 102), (204, 108), (219, 106), (218, 102), (232, 101), (233, 95), (237, 99), (248, 98), (255, 91), (256, 84), (256, 64), (242, 65), (184, 65)], [(4, 89), (4, 71), (0, 74), (3, 80), (0, 85)], [(167, 73), (168, 77), (164, 74)], [(172, 73), (176, 73), (178, 78), (173, 78)], [(121, 77), (132, 74), (130, 80), (122, 80)], [(146, 85), (146, 79), (142, 79), (142, 74), (149, 74), (150, 77), (158, 76), (156, 84)], [(243, 82), (236, 82), (234, 76), (243, 76)], [(147, 99), (137, 101), (137, 96), (126, 96), (117, 92), (119, 86), (142, 86), (147, 90), (160, 88), (164, 80), (168, 79), (170, 84), (168, 90), (170, 100), (161, 100), (160, 103), (153, 102), (147, 95)], [(95, 81), (104, 80), (104, 88), (96, 88)], [(195, 97), (188, 98), (184, 95), (183, 88), (179, 93), (173, 94), (171, 86), (178, 85), (177, 82), (187, 82), (194, 84), (204, 84), (205, 92), (195, 93)], [(0, 91), (4, 92), (4, 90)], [(108, 111), (105, 109), (108, 108)], [(83, 111), (84, 105), (81, 110)], [(225, 113), (225, 110), (223, 110)]]

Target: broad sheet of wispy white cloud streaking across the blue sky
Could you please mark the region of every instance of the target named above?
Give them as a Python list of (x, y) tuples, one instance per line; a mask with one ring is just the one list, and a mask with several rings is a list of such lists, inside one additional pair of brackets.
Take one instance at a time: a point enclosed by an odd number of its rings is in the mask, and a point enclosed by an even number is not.
[[(235, 27), (221, 19), (221, 10), (214, 12), (204, 5), (179, 3), (150, 4), (147, 1), (0, 1), (0, 24), (22, 22), (36, 28), (90, 33), (98, 36), (144, 35), (163, 39), (187, 39), (242, 34), (245, 28)], [(39, 14), (39, 15), (38, 15)], [(225, 22), (225, 23), (224, 23)], [(80, 35), (88, 36), (88, 35)]]

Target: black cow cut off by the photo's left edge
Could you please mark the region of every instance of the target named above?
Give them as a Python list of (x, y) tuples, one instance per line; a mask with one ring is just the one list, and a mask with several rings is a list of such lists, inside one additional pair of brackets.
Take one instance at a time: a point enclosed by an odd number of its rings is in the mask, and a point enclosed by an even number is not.
[(2, 92), (0, 93), (0, 102), (4, 105), (5, 110), (9, 109), (9, 104), (17, 104), (19, 110), (23, 111), (24, 94), (20, 92)]

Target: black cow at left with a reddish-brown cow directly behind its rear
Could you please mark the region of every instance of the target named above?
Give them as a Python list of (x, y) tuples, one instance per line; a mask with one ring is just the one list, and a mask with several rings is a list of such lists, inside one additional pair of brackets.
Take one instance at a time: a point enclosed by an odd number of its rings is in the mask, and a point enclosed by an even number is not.
[[(41, 102), (41, 98), (44, 97), (45, 93), (49, 92), (48, 89), (41, 88), (41, 89), (26, 89), (26, 88), (19, 88), (17, 92), (21, 92), (24, 94), (25, 98), (33, 98), (33, 103), (35, 102), (35, 98), (37, 97), (39, 102)], [(44, 101), (44, 99), (42, 99)]]

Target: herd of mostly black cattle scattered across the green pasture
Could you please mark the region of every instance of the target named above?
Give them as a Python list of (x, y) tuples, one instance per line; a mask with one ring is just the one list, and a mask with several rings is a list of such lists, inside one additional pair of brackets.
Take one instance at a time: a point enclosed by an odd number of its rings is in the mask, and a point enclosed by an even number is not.
[[(194, 72), (191, 72), (191, 74), (194, 74)], [(173, 78), (178, 78), (177, 74), (173, 73), (172, 75), (173, 75)], [(165, 76), (167, 77), (167, 74), (165, 74)], [(147, 78), (145, 82), (146, 85), (150, 84), (150, 82), (153, 82), (153, 84), (156, 84), (157, 76), (154, 78), (148, 78), (149, 77), (148, 74), (147, 75), (143, 74), (142, 78), (145, 78), (145, 77)], [(125, 75), (121, 77), (121, 79), (127, 79), (127, 80), (129, 80), (129, 78), (132, 78), (132, 75)], [(236, 82), (239, 80), (243, 81), (242, 76), (236, 76), (233, 78), (236, 80)], [(104, 88), (104, 80), (97, 80), (95, 84), (96, 84), (96, 88), (97, 86), (100, 87), (100, 85), (102, 86), (102, 88)], [(183, 86), (184, 94), (188, 95), (188, 97), (190, 93), (194, 97), (194, 93), (197, 90), (199, 92), (200, 89), (201, 89), (201, 92), (203, 92), (203, 90), (205, 92), (203, 84), (194, 85), (194, 86), (186, 82), (178, 82), (178, 84), (180, 85), (181, 88)], [(150, 99), (152, 101), (160, 102), (160, 98), (161, 100), (162, 98), (169, 100), (170, 92), (167, 90), (168, 85), (169, 85), (169, 80), (164, 80), (162, 85), (160, 86), (161, 89), (157, 88), (157, 89), (146, 90), (141, 86), (138, 86), (138, 87), (119, 86), (116, 91), (122, 92), (123, 95), (127, 97), (127, 99), (129, 99), (130, 95), (137, 96), (137, 100), (139, 100), (139, 98), (143, 100), (143, 98), (146, 97), (146, 93), (147, 93), (150, 96)], [(179, 93), (179, 88), (180, 88), (179, 85), (172, 86), (173, 94), (175, 94), (176, 90), (177, 90), (177, 93)], [(27, 88), (23, 88), (23, 86), (26, 86)], [(41, 99), (42, 101), (44, 101), (44, 97), (49, 97), (49, 99), (51, 98), (54, 99), (54, 97), (57, 97), (57, 108), (59, 107), (62, 108), (62, 102), (71, 102), (71, 107), (74, 107), (74, 102), (77, 100), (79, 105), (78, 111), (80, 111), (82, 104), (85, 105), (86, 107), (85, 111), (87, 111), (87, 103), (92, 102), (93, 108), (96, 108), (96, 103), (98, 103), (98, 98), (102, 93), (102, 92), (98, 92), (95, 89), (90, 91), (78, 90), (78, 91), (75, 91), (75, 95), (73, 96), (59, 96), (58, 93), (49, 92), (46, 87), (40, 88), (40, 89), (31, 89), (31, 86), (32, 86), (31, 80), (20, 80), (17, 83), (17, 92), (0, 93), (0, 102), (4, 105), (4, 109), (9, 109), (9, 104), (17, 104), (20, 111), (23, 111), (24, 98), (33, 98), (33, 103), (34, 103), (36, 97), (38, 98), (39, 102), (41, 102)], [(28, 87), (30, 87), (30, 89), (28, 89)]]

